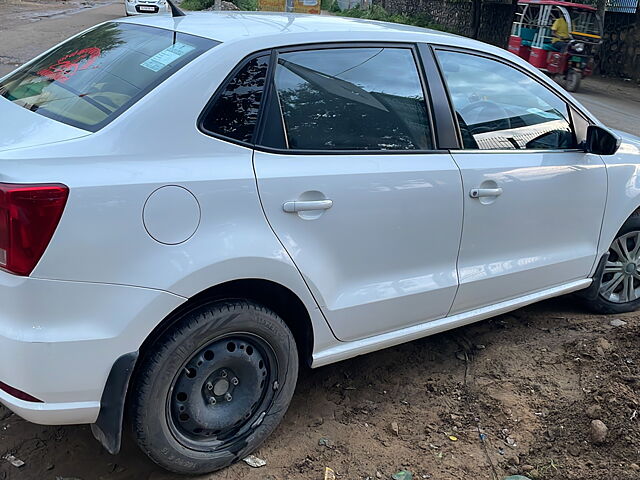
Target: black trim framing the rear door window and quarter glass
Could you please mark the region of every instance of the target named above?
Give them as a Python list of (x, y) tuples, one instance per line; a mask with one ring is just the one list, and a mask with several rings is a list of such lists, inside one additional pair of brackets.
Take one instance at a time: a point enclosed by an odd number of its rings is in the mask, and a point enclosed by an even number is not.
[[(420, 80), (420, 85), (422, 88), (422, 92), (424, 95), (424, 101), (427, 108), (427, 120), (429, 122), (430, 128), (430, 137), (431, 144), (434, 147), (429, 150), (301, 150), (301, 149), (288, 149), (288, 148), (274, 148), (261, 145), (260, 142), (264, 140), (264, 121), (266, 118), (266, 110), (267, 104), (270, 101), (273, 101), (272, 93), (275, 91), (274, 78), (275, 78), (275, 67), (277, 65), (277, 58), (280, 53), (290, 53), (290, 52), (300, 52), (306, 50), (333, 50), (337, 48), (402, 48), (406, 50), (410, 50), (416, 66), (416, 72), (418, 73), (418, 78)], [(256, 129), (254, 130), (254, 135), (251, 142), (243, 142), (234, 138), (227, 137), (225, 135), (221, 135), (219, 133), (210, 132), (203, 127), (203, 121), (210, 109), (213, 107), (217, 99), (222, 95), (225, 88), (229, 84), (229, 82), (238, 74), (244, 66), (253, 60), (262, 55), (271, 55), (269, 68), (267, 70), (267, 79), (264, 85), (263, 97), (260, 104), (260, 111), (258, 113), (258, 122), (256, 123)], [(431, 105), (431, 91), (429, 89), (427, 77), (424, 72), (424, 65), (422, 62), (422, 57), (420, 56), (420, 52), (418, 49), (418, 44), (415, 42), (369, 42), (369, 41), (354, 41), (354, 42), (322, 42), (322, 43), (310, 43), (310, 44), (302, 44), (302, 45), (286, 45), (281, 47), (275, 47), (265, 50), (260, 50), (250, 55), (244, 57), (238, 65), (236, 65), (231, 73), (225, 77), (220, 86), (216, 89), (213, 96), (207, 102), (207, 105), (202, 110), (197, 119), (197, 128), (203, 134), (217, 138), (219, 140), (223, 140), (226, 142), (234, 143), (236, 145), (240, 145), (243, 147), (251, 148), (255, 151), (266, 152), (266, 153), (275, 153), (280, 155), (424, 155), (424, 154), (434, 154), (434, 153), (447, 153), (447, 149), (437, 148), (437, 137), (436, 137), (436, 123), (433, 115), (433, 108)], [(276, 99), (277, 99), (276, 94)], [(280, 118), (284, 125), (284, 117), (282, 115), (282, 110), (278, 106), (280, 111)], [(285, 131), (285, 142), (288, 143), (286, 139), (286, 131)]]

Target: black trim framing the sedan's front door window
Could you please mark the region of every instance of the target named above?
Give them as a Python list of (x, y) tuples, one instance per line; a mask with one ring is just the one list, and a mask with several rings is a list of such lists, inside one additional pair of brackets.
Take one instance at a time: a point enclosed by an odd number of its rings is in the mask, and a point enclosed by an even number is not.
[[(450, 149), (451, 151), (455, 151), (456, 153), (518, 153), (518, 154), (527, 154), (527, 153), (567, 153), (567, 152), (582, 152), (584, 153), (585, 150), (584, 149), (580, 149), (580, 148), (570, 148), (570, 149), (550, 149), (550, 150), (541, 150), (541, 149), (536, 149), (536, 150), (525, 150), (525, 149), (500, 149), (500, 150), (481, 150), (481, 149), (472, 149), (472, 148), (464, 148), (464, 143), (462, 142), (462, 132), (460, 130), (460, 124), (457, 120), (457, 118), (455, 117), (455, 107), (453, 106), (453, 101), (452, 101), (452, 97), (451, 97), (451, 93), (449, 91), (449, 86), (447, 85), (447, 81), (446, 78), (444, 76), (444, 72), (442, 70), (442, 65), (440, 64), (440, 59), (438, 58), (438, 51), (445, 51), (445, 52), (453, 52), (453, 53), (462, 53), (462, 54), (467, 54), (467, 55), (473, 55), (476, 57), (482, 57), (482, 58), (486, 58), (488, 60), (493, 60), (496, 62), (500, 62), (503, 65), (506, 65), (507, 67), (511, 67), (517, 71), (519, 71), (520, 73), (528, 76), (529, 78), (531, 78), (533, 81), (535, 81), (536, 83), (538, 83), (539, 85), (541, 85), (542, 87), (544, 87), (545, 89), (547, 89), (551, 94), (555, 95), (556, 97), (558, 97), (562, 102), (564, 102), (567, 105), (567, 111), (569, 114), (569, 124), (571, 125), (571, 129), (573, 131), (573, 134), (575, 135), (575, 125), (573, 123), (573, 116), (571, 114), (571, 110), (575, 110), (580, 116), (582, 116), (585, 120), (587, 120), (589, 122), (590, 125), (595, 125), (595, 121), (592, 118), (591, 115), (587, 114), (580, 106), (576, 105), (574, 101), (572, 101), (572, 99), (567, 98), (566, 96), (562, 95), (561, 92), (558, 92), (557, 90), (551, 88), (551, 86), (546, 85), (544, 82), (541, 82), (539, 78), (536, 78), (536, 75), (534, 75), (532, 72), (528, 71), (527, 69), (523, 68), (522, 66), (513, 63), (511, 61), (509, 61), (506, 58), (502, 58), (498, 55), (493, 55), (491, 53), (486, 53), (486, 52), (481, 52), (479, 50), (473, 50), (473, 49), (469, 49), (469, 48), (464, 48), (464, 47), (456, 47), (456, 46), (452, 46), (452, 45), (443, 45), (443, 44), (429, 44), (431, 51), (433, 52), (433, 56), (436, 62), (436, 65), (438, 67), (438, 73), (440, 75), (440, 81), (442, 83), (442, 85), (445, 88), (446, 94), (447, 94), (447, 99), (449, 102), (449, 106), (451, 109), (451, 115), (454, 119), (455, 122), (455, 129), (456, 129), (456, 134), (458, 136), (458, 141), (459, 141), (459, 145), (460, 148), (458, 149)], [(577, 136), (576, 136), (576, 142), (577, 142)]]

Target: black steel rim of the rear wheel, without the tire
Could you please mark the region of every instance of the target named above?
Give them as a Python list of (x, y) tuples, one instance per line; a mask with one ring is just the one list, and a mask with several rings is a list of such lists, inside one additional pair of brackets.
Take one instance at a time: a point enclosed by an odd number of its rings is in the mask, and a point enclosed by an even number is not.
[(184, 363), (167, 398), (171, 433), (187, 448), (224, 450), (257, 428), (278, 388), (273, 348), (253, 333), (232, 333)]

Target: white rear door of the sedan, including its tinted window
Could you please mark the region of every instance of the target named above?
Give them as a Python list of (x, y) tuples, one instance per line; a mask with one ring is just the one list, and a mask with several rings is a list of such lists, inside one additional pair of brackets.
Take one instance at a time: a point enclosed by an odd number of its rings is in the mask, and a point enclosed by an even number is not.
[(442, 318), (458, 286), (460, 172), (434, 150), (416, 58), (375, 44), (273, 60), (258, 190), (341, 340)]

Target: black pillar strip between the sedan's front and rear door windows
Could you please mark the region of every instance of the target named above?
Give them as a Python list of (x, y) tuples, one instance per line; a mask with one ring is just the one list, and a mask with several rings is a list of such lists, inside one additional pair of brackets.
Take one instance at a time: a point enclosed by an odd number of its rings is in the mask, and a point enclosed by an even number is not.
[(453, 108), (449, 102), (449, 94), (440, 75), (440, 69), (433, 51), (426, 43), (419, 43), (418, 54), (429, 90), (437, 148), (440, 150), (457, 150), (461, 146), (458, 136), (458, 124), (454, 119)]

